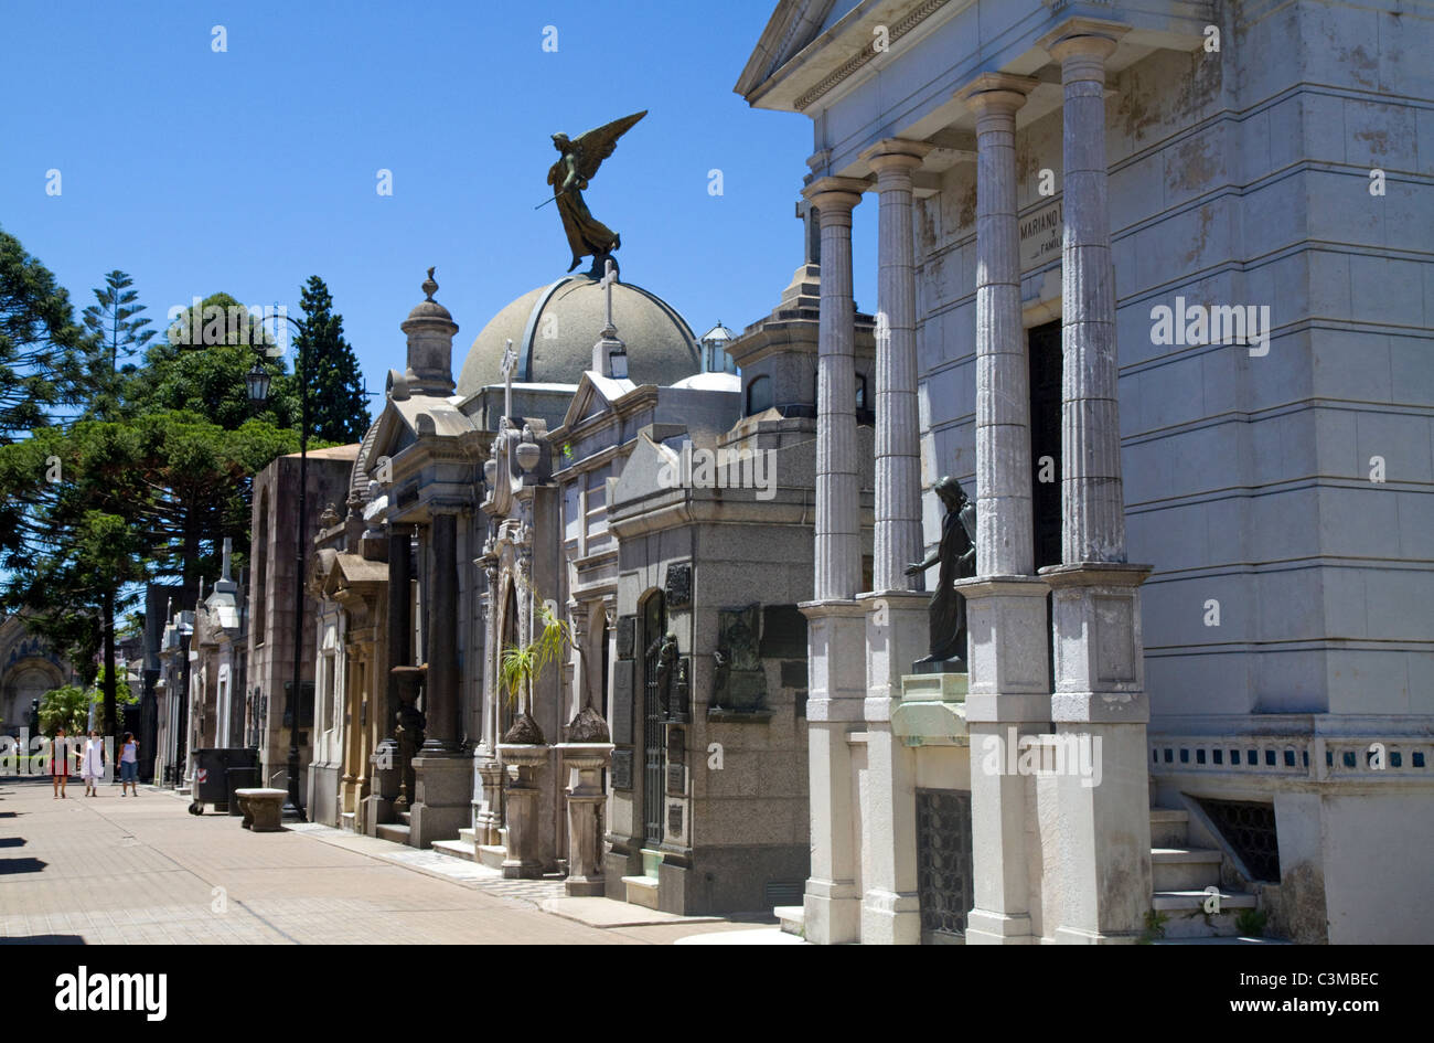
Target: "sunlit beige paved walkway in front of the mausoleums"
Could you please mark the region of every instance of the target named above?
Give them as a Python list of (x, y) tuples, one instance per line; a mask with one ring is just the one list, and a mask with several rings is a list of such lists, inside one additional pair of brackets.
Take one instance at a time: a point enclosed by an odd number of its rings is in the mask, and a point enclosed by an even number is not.
[[(0, 779), (0, 940), (6, 943), (671, 944), (750, 922), (591, 927), (543, 912), (554, 881), (369, 836), (300, 826), (251, 834), (228, 815), (142, 786), (85, 798), (72, 779)], [(760, 935), (760, 937), (759, 937)], [(736, 940), (734, 940), (736, 941)]]

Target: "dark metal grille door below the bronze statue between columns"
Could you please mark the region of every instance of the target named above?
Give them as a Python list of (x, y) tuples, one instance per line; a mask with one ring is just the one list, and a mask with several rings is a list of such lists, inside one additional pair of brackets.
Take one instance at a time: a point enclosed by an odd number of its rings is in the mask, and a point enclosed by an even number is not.
[(923, 944), (959, 941), (975, 904), (971, 888), (971, 793), (916, 790), (916, 894)]

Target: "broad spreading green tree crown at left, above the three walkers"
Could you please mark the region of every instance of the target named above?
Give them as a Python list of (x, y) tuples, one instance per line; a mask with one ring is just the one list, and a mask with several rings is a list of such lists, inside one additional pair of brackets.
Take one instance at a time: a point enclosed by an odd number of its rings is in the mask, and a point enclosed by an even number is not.
[[(293, 430), (250, 420), (225, 430), (194, 413), (85, 420), (0, 446), (3, 601), (65, 650), (116, 725), (115, 626), (145, 580), (195, 591), (224, 537), (248, 544), (252, 478), (293, 452)], [(54, 479), (54, 481), (50, 481)]]

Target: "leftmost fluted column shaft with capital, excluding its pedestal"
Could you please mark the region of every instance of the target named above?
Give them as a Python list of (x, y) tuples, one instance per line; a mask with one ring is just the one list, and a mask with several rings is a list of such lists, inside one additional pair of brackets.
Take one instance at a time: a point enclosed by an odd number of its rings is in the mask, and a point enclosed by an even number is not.
[(852, 598), (862, 582), (862, 482), (856, 459), (856, 306), (852, 208), (866, 182), (820, 178), (806, 195), (822, 215), (817, 333), (815, 600)]

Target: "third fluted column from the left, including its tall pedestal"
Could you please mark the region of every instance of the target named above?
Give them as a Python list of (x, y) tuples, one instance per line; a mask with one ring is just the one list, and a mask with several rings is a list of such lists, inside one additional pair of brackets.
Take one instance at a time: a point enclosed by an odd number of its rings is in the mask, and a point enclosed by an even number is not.
[[(968, 944), (1030, 944), (1031, 780), (987, 756), (1050, 722), (1045, 584), (1031, 575), (1030, 370), (1021, 324), (1015, 113), (1034, 80), (984, 73), (977, 118), (977, 575), (967, 598), (975, 908)], [(995, 772), (987, 768), (998, 760)]]

